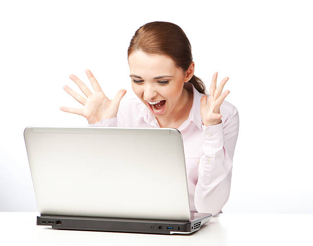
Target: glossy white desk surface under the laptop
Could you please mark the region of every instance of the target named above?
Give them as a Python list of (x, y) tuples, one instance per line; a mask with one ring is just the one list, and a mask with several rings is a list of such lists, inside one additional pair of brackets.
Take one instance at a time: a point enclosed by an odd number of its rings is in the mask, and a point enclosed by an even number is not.
[[(191, 235), (55, 230), (36, 212), (0, 212), (1, 245), (313, 245), (313, 214), (219, 214)], [(203, 244), (200, 244), (203, 243)]]

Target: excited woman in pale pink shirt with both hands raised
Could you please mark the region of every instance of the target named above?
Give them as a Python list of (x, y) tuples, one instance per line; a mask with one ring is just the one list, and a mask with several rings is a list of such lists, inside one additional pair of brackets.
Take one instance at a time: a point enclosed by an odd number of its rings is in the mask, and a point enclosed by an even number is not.
[[(216, 87), (214, 73), (210, 94), (194, 75), (190, 42), (175, 24), (154, 21), (140, 27), (128, 48), (132, 90), (138, 98), (122, 101), (126, 90), (113, 100), (102, 92), (86, 70), (94, 93), (75, 75), (70, 78), (86, 97), (70, 87), (64, 90), (83, 108), (60, 107), (81, 115), (89, 126), (172, 127), (183, 136), (191, 212), (213, 215), (226, 204), (231, 186), (232, 159), (239, 131), (238, 111), (222, 93), (229, 78)], [(121, 103), (120, 103), (121, 102)], [(162, 146), (152, 146), (162, 153)]]

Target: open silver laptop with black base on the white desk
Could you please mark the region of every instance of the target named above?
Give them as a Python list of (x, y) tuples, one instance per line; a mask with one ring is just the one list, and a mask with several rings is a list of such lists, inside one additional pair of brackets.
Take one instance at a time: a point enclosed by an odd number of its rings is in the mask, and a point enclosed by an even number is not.
[(189, 234), (212, 217), (190, 212), (177, 129), (29, 126), (24, 139), (37, 225)]

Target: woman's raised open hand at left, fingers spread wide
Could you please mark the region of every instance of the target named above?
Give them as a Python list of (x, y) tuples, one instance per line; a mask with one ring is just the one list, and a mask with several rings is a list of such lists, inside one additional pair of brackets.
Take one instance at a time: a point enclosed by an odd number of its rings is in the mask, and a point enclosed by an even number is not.
[(72, 79), (85, 94), (86, 98), (74, 92), (69, 86), (63, 86), (65, 92), (69, 93), (76, 101), (84, 105), (83, 108), (60, 107), (64, 112), (77, 114), (85, 117), (88, 123), (93, 124), (101, 119), (115, 118), (119, 109), (120, 101), (125, 95), (126, 90), (120, 90), (113, 100), (109, 100), (102, 92), (101, 87), (88, 69), (85, 70), (88, 79), (90, 80), (95, 93), (92, 93), (88, 87), (74, 74), (69, 77)]

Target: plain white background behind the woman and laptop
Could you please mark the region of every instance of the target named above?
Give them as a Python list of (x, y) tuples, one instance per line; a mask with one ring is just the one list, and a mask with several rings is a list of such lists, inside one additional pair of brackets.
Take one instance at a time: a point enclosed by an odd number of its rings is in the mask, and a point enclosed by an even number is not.
[[(113, 98), (134, 97), (127, 48), (150, 21), (189, 38), (195, 75), (229, 77), (239, 111), (231, 195), (224, 213), (313, 213), (312, 25), (309, 1), (2, 1), (0, 211), (37, 211), (23, 131), (86, 126), (62, 87), (90, 69)], [(90, 86), (91, 88), (91, 86)]]

